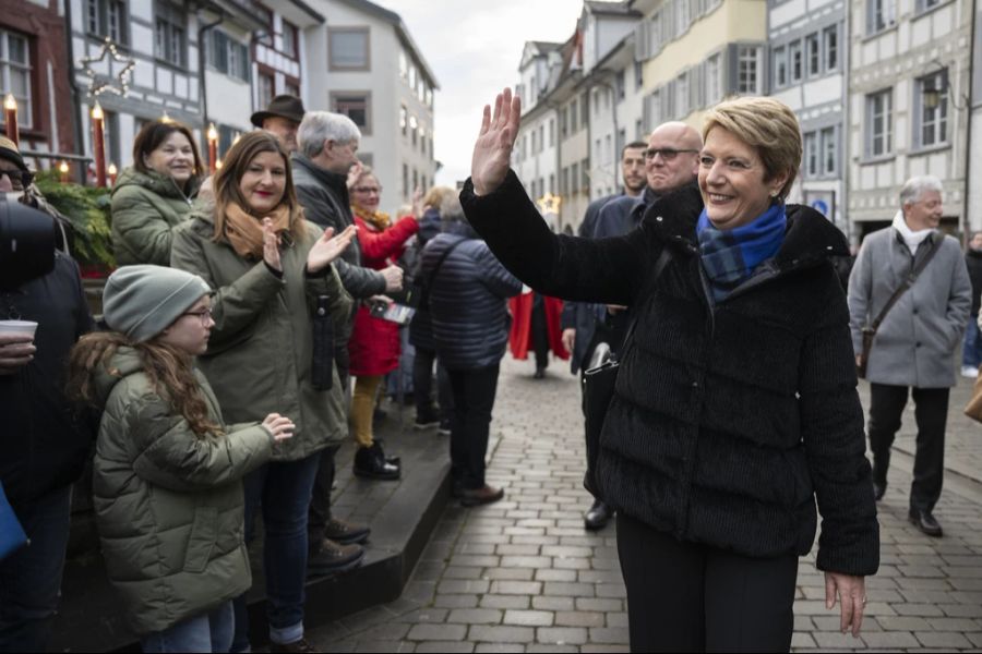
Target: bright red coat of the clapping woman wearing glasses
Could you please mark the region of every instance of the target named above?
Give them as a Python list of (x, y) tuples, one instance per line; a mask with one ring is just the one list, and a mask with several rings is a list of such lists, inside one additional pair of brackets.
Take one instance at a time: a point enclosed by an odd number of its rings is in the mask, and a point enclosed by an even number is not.
[[(376, 231), (361, 218), (355, 218), (358, 227), (358, 243), (361, 245), (361, 265), (381, 270), (391, 259), (403, 254), (406, 241), (419, 231), (419, 222), (403, 218), (385, 231)], [(368, 306), (358, 307), (355, 315), (355, 330), (348, 341), (351, 356), (351, 375), (384, 375), (399, 367), (399, 326), (369, 313)]]

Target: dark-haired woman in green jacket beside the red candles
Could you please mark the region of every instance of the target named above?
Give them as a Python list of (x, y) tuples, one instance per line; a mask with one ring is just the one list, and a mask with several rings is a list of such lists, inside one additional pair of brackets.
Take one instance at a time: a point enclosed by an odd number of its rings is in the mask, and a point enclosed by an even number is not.
[(173, 229), (188, 219), (202, 180), (191, 131), (173, 121), (146, 123), (133, 142), (133, 166), (112, 185), (112, 252), (120, 266), (170, 265)]

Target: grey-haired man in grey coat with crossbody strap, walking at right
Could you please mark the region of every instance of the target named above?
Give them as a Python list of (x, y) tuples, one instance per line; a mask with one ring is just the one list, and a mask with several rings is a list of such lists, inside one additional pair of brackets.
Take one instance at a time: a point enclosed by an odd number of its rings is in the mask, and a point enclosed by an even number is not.
[(863, 327), (876, 319), (914, 267), (927, 259), (879, 324), (869, 351), (866, 378), (877, 500), (886, 492), (890, 447), (908, 392), (913, 396), (918, 439), (909, 519), (930, 536), (942, 535), (933, 511), (945, 469), (948, 393), (955, 386), (955, 353), (972, 305), (961, 247), (937, 230), (942, 191), (935, 177), (908, 180), (893, 225), (866, 237), (849, 277), (852, 344), (859, 363)]

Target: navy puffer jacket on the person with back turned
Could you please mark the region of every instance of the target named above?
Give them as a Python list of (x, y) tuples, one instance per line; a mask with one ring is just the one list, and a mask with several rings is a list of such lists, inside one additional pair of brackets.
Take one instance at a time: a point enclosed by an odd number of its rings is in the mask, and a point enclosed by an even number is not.
[(452, 222), (447, 229), (427, 244), (421, 267), (429, 278), (447, 247), (459, 243), (429, 290), (436, 354), (448, 371), (494, 365), (504, 355), (512, 325), (505, 299), (522, 292), (522, 282), (468, 225)]

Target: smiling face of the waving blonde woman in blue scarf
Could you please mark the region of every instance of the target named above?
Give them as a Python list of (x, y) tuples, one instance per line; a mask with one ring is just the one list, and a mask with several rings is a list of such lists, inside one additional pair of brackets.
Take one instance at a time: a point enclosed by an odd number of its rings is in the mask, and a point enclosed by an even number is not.
[(765, 181), (767, 170), (756, 149), (728, 130), (714, 128), (699, 156), (699, 191), (717, 229), (752, 222), (770, 206), (788, 173)]

